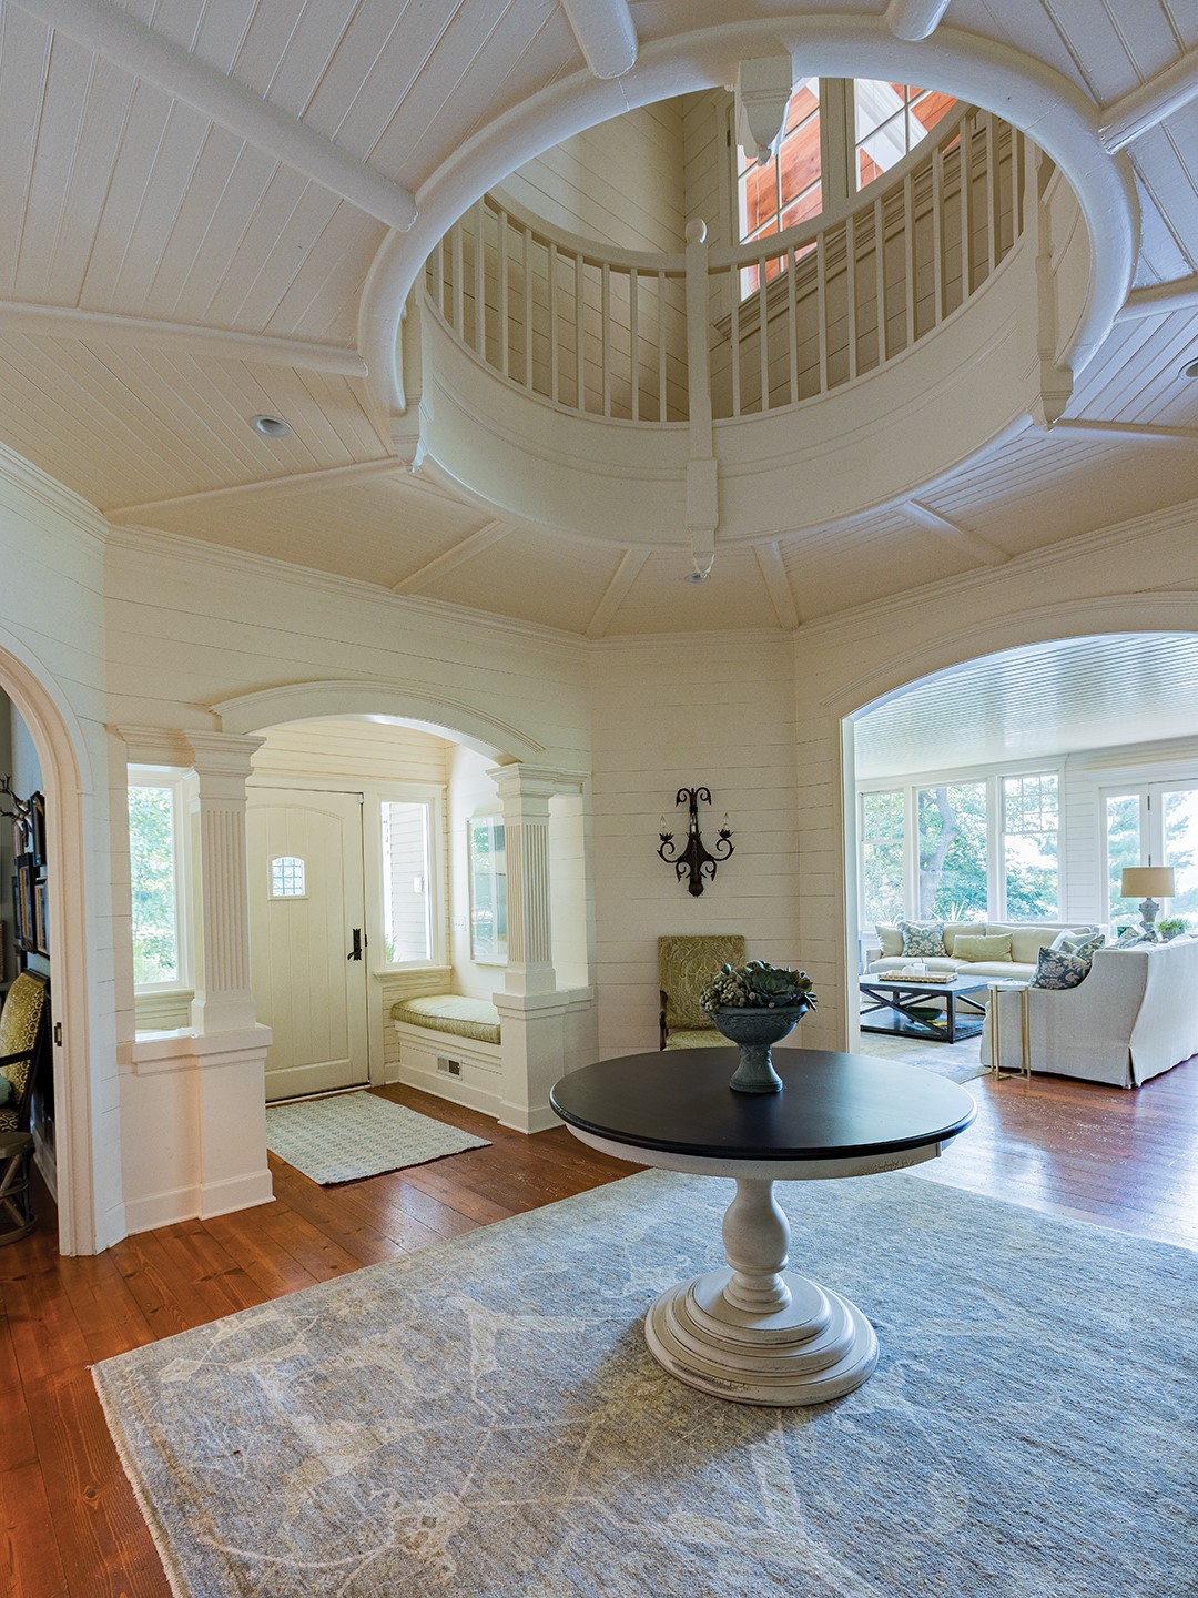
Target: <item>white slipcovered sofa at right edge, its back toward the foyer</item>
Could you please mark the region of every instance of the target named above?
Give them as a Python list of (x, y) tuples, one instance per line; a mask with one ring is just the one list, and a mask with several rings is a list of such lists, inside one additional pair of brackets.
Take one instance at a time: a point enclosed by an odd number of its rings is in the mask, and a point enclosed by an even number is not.
[[(1134, 1088), (1198, 1055), (1198, 938), (1099, 949), (1080, 988), (1027, 988), (995, 997), (998, 1066), (1022, 1063), (1027, 1005), (1032, 1071)], [(982, 1028), (994, 1061), (994, 1018)]]

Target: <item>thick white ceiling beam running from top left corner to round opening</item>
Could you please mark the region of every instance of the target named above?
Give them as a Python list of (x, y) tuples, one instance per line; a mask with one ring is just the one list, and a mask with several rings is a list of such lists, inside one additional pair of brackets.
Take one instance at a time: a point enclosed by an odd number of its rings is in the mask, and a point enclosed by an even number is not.
[(367, 216), (399, 232), (407, 232), (415, 222), (415, 200), (406, 189), (339, 149), (315, 128), (297, 121), (283, 107), (272, 105), (188, 50), (173, 45), (131, 13), (109, 5), (109, 0), (14, 3), (54, 32), (192, 105), (246, 144), (340, 195)]

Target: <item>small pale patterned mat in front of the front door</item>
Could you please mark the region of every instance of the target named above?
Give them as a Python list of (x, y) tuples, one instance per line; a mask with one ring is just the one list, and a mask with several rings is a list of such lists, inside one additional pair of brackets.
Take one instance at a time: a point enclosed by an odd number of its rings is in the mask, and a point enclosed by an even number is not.
[(489, 1144), (486, 1138), (471, 1138), (377, 1093), (337, 1093), (296, 1104), (268, 1104), (267, 1147), (327, 1186), (426, 1165), (446, 1154)]

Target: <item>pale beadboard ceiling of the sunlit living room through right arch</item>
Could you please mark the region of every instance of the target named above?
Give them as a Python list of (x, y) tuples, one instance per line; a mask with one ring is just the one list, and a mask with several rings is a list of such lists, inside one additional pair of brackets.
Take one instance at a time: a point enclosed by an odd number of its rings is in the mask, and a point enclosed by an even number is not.
[(1198, 638), (1115, 633), (971, 660), (855, 719), (861, 781), (1184, 738)]

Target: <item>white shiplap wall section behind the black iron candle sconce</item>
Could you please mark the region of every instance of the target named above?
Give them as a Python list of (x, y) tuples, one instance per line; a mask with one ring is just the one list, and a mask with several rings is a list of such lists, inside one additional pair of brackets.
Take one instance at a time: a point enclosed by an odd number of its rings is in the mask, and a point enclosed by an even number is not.
[[(803, 962), (795, 845), (794, 678), (786, 641), (682, 638), (594, 654), (594, 876), (599, 1048), (657, 1047), (657, 940), (743, 932), (752, 957)], [(735, 853), (692, 898), (657, 858), (658, 818), (684, 833), (679, 788), (708, 786)]]

